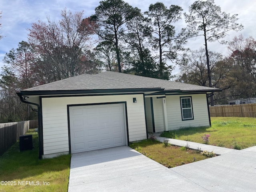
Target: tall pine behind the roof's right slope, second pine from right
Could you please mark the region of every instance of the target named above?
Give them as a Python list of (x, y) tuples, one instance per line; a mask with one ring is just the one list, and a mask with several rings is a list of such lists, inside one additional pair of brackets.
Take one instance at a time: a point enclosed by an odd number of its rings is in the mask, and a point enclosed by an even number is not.
[(148, 36), (152, 50), (156, 51), (158, 77), (169, 80), (173, 66), (168, 65), (177, 59), (178, 51), (182, 50), (184, 39), (176, 35), (174, 23), (181, 19), (182, 8), (171, 5), (167, 8), (163, 3), (151, 4), (145, 12), (148, 16), (150, 35)]

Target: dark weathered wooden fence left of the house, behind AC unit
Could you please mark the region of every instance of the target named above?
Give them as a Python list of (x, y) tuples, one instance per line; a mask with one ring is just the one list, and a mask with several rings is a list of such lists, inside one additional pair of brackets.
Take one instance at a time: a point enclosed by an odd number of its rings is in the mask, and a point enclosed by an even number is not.
[(38, 120), (0, 124), (0, 155), (4, 154), (30, 128), (37, 128)]

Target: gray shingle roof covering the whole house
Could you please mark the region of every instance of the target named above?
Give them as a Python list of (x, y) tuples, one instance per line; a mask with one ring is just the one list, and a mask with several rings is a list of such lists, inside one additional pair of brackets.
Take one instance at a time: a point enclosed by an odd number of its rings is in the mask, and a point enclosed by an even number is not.
[(118, 72), (102, 72), (96, 75), (83, 74), (64, 80), (32, 87), (23, 91), (59, 91), (59, 90), (108, 90), (108, 89), (147, 89), (164, 88), (165, 90), (205, 90), (217, 91), (216, 88), (197, 86), (156, 78), (148, 78)]

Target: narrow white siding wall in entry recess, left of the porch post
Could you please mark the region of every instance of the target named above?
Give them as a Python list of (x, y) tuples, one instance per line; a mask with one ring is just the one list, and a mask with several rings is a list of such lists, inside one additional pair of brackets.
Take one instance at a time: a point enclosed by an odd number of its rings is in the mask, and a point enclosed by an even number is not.
[(164, 131), (164, 119), (163, 119), (163, 110), (162, 110), (162, 98), (153, 97), (153, 110), (154, 110), (154, 122), (155, 122), (155, 131), (163, 132)]

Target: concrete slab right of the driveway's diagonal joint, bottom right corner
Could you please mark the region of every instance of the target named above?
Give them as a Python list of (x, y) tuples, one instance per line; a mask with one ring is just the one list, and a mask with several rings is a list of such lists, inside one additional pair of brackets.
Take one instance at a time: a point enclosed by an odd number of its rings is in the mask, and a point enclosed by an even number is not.
[(256, 192), (256, 147), (171, 168), (211, 192)]

